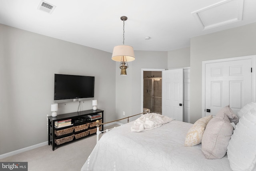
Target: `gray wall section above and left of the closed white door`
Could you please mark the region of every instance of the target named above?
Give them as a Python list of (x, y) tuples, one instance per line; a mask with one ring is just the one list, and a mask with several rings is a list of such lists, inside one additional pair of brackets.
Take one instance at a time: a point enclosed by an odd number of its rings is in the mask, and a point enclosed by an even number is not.
[(202, 61), (256, 54), (256, 23), (190, 40), (191, 123), (202, 117)]

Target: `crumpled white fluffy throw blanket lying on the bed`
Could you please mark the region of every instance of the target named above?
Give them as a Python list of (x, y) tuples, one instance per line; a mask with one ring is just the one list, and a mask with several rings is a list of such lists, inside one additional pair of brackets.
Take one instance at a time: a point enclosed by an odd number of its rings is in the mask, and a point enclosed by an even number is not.
[(134, 121), (131, 131), (140, 132), (155, 129), (172, 120), (173, 118), (158, 113), (146, 113)]

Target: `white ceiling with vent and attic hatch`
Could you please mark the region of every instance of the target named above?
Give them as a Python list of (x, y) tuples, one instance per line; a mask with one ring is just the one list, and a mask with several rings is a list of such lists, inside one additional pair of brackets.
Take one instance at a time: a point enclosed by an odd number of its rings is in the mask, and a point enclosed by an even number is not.
[(56, 6), (52, 14), (37, 9), (40, 1), (0, 0), (0, 23), (112, 52), (123, 43), (121, 16), (128, 17), (124, 44), (153, 51), (189, 47), (192, 37), (256, 22), (256, 0), (45, 0)]

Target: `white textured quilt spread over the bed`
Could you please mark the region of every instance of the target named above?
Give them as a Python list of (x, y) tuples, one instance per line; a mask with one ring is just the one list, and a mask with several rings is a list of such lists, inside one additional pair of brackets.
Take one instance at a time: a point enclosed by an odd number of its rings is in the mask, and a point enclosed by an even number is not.
[(205, 159), (201, 144), (184, 147), (191, 123), (171, 121), (132, 132), (134, 121), (104, 133), (81, 171), (230, 171), (228, 157)]

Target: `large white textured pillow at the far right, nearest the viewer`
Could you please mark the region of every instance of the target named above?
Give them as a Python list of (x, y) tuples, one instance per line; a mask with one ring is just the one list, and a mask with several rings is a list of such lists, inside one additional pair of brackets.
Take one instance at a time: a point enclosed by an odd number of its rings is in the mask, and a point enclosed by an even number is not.
[(228, 160), (233, 171), (256, 170), (256, 108), (236, 125), (228, 144)]

